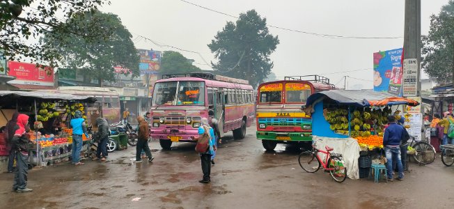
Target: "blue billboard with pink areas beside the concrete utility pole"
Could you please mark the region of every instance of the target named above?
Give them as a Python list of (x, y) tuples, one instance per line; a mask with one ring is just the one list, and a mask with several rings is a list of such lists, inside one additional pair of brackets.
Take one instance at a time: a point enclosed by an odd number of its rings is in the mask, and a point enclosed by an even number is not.
[(374, 91), (402, 96), (402, 48), (373, 54)]

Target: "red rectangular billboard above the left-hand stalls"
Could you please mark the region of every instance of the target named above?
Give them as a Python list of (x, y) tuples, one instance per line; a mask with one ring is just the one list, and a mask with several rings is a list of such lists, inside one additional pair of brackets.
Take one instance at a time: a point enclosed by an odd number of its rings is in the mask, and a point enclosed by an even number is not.
[(8, 84), (54, 86), (54, 69), (32, 63), (8, 61), (8, 75), (16, 77)]

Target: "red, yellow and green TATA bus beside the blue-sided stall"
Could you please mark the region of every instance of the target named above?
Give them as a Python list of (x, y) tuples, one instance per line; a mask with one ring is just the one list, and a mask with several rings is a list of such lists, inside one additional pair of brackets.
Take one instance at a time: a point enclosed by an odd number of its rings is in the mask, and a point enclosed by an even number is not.
[(334, 89), (319, 75), (285, 77), (258, 86), (257, 139), (266, 150), (276, 144), (306, 144), (312, 141), (312, 120), (302, 111), (309, 95)]

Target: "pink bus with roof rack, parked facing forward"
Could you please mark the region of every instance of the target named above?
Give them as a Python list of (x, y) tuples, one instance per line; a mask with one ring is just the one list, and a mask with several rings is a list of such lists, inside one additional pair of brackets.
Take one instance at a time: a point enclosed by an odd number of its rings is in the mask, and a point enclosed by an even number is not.
[(214, 111), (221, 136), (233, 131), (235, 139), (246, 135), (255, 117), (253, 88), (248, 81), (210, 73), (163, 75), (153, 88), (150, 109), (152, 139), (164, 149), (173, 142), (192, 142), (201, 118)]

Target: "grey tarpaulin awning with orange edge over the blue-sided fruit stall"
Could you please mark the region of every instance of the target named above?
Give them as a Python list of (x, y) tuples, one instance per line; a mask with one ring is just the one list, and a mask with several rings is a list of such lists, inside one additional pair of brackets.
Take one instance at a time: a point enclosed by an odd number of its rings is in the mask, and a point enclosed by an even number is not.
[(386, 106), (396, 104), (408, 104), (417, 106), (419, 103), (407, 98), (399, 98), (386, 92), (373, 90), (330, 90), (314, 93), (309, 96), (306, 106), (310, 106), (319, 100), (330, 100), (336, 104), (352, 105), (357, 107)]

